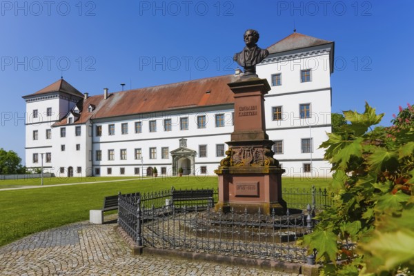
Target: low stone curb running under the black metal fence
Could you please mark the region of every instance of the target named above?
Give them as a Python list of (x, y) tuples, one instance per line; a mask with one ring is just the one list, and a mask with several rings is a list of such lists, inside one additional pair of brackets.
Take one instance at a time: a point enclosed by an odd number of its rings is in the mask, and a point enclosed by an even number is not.
[(232, 264), (235, 266), (250, 266), (264, 268), (268, 270), (276, 270), (285, 273), (296, 273), (302, 275), (316, 276), (319, 275), (319, 266), (308, 264), (297, 264), (290, 262), (277, 262), (264, 259), (253, 259), (248, 257), (235, 257), (210, 253), (195, 253), (184, 250), (172, 250), (152, 248), (145, 246), (137, 246), (135, 241), (125, 232), (121, 226), (115, 226), (116, 232), (124, 239), (124, 242), (130, 248), (132, 255), (159, 255), (168, 257), (178, 257), (181, 259), (192, 259), (197, 261), (215, 262), (218, 264)]

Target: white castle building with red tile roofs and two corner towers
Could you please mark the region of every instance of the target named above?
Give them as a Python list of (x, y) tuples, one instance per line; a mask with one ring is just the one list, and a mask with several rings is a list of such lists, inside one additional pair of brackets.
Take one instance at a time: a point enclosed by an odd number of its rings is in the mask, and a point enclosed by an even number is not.
[[(285, 175), (324, 177), (334, 42), (293, 33), (257, 66), (271, 90), (266, 131)], [(88, 96), (59, 79), (24, 96), (26, 166), (60, 177), (214, 175), (233, 132), (237, 75)]]

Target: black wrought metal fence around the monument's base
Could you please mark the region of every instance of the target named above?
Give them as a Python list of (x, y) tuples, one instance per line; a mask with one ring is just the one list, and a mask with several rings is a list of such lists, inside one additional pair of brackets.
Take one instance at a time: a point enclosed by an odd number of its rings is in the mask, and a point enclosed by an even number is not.
[[(214, 212), (206, 201), (175, 206), (173, 189), (135, 197), (119, 194), (119, 225), (138, 246), (309, 263), (306, 250), (295, 241), (312, 231), (315, 210), (332, 203), (326, 190), (285, 189), (288, 208), (304, 212), (291, 214), (288, 210), (278, 216), (231, 210), (224, 214)], [(215, 202), (217, 196), (215, 190)]]

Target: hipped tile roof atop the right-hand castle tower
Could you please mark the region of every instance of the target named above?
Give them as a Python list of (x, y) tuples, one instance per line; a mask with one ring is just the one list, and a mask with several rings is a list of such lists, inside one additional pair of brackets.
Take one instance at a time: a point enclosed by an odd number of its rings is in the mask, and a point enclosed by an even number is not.
[(317, 39), (316, 37), (310, 37), (305, 34), (299, 34), (298, 32), (294, 32), (293, 34), (290, 34), (288, 37), (285, 37), (281, 41), (277, 41), (275, 44), (268, 47), (267, 50), (270, 54), (272, 54), (275, 52), (284, 52), (288, 50), (307, 48), (326, 43), (333, 43), (333, 41)]

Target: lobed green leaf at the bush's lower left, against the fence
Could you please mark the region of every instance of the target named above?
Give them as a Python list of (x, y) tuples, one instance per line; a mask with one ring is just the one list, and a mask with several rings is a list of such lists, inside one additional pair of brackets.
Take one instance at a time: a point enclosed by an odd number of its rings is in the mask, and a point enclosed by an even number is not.
[(316, 261), (321, 259), (335, 262), (337, 253), (337, 235), (329, 230), (316, 229), (313, 233), (304, 236), (304, 244), (309, 250), (317, 250)]

